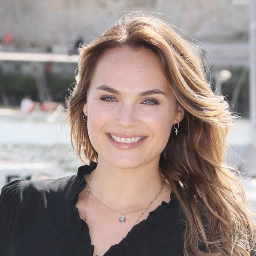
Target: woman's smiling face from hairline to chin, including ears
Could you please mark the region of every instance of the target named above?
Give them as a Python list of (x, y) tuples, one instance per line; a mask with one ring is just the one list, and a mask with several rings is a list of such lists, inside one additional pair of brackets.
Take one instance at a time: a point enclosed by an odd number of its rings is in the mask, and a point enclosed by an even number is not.
[(83, 112), (98, 162), (121, 169), (158, 167), (172, 126), (184, 115), (158, 57), (129, 47), (98, 61)]

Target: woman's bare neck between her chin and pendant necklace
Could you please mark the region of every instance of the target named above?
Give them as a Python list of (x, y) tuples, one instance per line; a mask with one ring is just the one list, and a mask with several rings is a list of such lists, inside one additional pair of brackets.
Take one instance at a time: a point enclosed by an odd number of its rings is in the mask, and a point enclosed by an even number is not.
[(102, 202), (113, 208), (129, 210), (144, 207), (162, 187), (158, 166), (120, 169), (98, 162), (90, 190)]

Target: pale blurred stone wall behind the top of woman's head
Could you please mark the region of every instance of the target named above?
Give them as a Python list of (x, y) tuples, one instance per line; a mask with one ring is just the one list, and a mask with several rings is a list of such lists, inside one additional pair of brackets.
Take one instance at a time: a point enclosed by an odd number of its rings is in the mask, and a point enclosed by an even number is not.
[(157, 16), (203, 43), (248, 40), (248, 5), (232, 0), (0, 0), (0, 6), (0, 38), (10, 32), (20, 47), (64, 52), (80, 36), (97, 37), (124, 11), (164, 13)]

